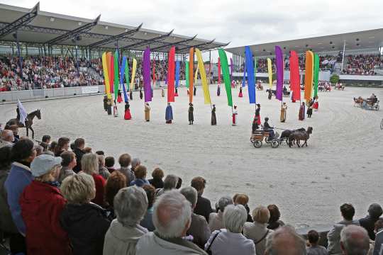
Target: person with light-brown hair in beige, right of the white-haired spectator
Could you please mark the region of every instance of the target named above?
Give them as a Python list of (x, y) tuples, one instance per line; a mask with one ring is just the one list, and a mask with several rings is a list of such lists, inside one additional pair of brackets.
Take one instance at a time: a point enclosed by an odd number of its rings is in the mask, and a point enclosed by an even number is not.
[(266, 238), (273, 232), (267, 229), (270, 212), (265, 206), (258, 206), (252, 211), (252, 219), (254, 222), (245, 222), (243, 234), (254, 242), (257, 254), (265, 254)]

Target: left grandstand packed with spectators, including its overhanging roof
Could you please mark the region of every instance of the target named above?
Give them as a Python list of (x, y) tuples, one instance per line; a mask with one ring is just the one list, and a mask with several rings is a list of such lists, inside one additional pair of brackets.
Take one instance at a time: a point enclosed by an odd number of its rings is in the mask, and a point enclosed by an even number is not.
[(0, 91), (103, 84), (101, 55), (115, 50), (130, 61), (138, 59), (140, 79), (146, 47), (152, 52), (156, 79), (165, 80), (170, 47), (176, 47), (176, 60), (184, 61), (190, 47), (206, 52), (228, 45), (196, 36), (145, 29), (142, 23), (107, 23), (100, 16), (87, 19), (40, 11), (40, 4), (30, 9), (0, 4)]

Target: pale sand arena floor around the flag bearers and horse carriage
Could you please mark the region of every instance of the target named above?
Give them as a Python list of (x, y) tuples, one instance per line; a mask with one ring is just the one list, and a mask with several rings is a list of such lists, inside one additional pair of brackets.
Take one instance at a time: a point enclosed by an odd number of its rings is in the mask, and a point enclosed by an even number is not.
[[(160, 166), (165, 174), (182, 176), (182, 186), (189, 185), (194, 176), (204, 176), (204, 196), (213, 206), (223, 195), (246, 193), (250, 210), (275, 203), (284, 222), (312, 226), (340, 220), (342, 203), (353, 203), (357, 217), (367, 213), (370, 203), (383, 203), (383, 130), (379, 128), (383, 113), (353, 106), (353, 96), (375, 93), (382, 100), (383, 89), (319, 92), (319, 111), (304, 121), (298, 120), (299, 103), (284, 98), (286, 123), (279, 123), (280, 102), (274, 98), (269, 101), (265, 91), (257, 91), (262, 120), (268, 116), (277, 128), (313, 127), (309, 147), (303, 149), (287, 145), (272, 149), (265, 144), (256, 149), (249, 142), (255, 107), (248, 103), (247, 89), (243, 89), (243, 98), (233, 89), (233, 101), (238, 106), (236, 127), (231, 126), (231, 108), (223, 86), (220, 97), (216, 96), (216, 86), (210, 91), (216, 103), (216, 126), (210, 125), (211, 109), (204, 105), (201, 87), (194, 98), (194, 125), (188, 125), (185, 88), (179, 89), (179, 97), (172, 103), (171, 125), (165, 124), (167, 102), (159, 90), (150, 104), (150, 123), (144, 121), (144, 103), (138, 92), (131, 101), (132, 120), (123, 120), (123, 103), (118, 104), (118, 118), (107, 115), (103, 96), (37, 101), (24, 103), (24, 107), (28, 112), (41, 109), (42, 120), (35, 119), (33, 125), (36, 139), (45, 134), (52, 140), (84, 137), (94, 152), (102, 149), (116, 159), (128, 152), (140, 157), (148, 167), (148, 177), (155, 166)], [(16, 104), (0, 108), (2, 123), (16, 117)], [(25, 129), (21, 130), (24, 134)]]

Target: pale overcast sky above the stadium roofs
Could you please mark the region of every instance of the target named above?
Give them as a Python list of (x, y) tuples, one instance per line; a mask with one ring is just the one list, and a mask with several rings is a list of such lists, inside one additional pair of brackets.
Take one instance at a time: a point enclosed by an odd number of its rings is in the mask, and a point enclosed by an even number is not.
[[(38, 0), (1, 0), (32, 8)], [(40, 0), (40, 10), (192, 36), (229, 47), (383, 27), (383, 0)]]

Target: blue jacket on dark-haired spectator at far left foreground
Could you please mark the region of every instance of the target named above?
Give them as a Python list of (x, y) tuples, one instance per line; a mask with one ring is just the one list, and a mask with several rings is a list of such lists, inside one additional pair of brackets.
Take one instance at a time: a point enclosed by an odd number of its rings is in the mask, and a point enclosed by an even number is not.
[(18, 162), (13, 162), (9, 176), (4, 184), (13, 222), (15, 223), (18, 231), (23, 235), (26, 234), (26, 225), (24, 224), (23, 217), (21, 217), (19, 200), (24, 188), (26, 188), (32, 180), (33, 176), (28, 166)]

